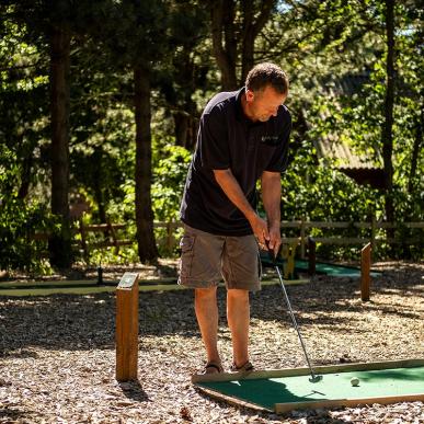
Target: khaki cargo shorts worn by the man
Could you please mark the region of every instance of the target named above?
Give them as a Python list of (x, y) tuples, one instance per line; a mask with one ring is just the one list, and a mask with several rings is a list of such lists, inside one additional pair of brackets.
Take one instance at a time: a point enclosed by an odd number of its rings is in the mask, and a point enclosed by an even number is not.
[(261, 261), (254, 236), (215, 236), (184, 225), (179, 284), (191, 288), (261, 289)]

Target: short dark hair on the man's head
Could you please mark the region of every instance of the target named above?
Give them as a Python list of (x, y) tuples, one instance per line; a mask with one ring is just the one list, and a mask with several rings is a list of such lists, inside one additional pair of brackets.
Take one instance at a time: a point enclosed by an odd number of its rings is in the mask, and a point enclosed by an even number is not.
[(277, 93), (287, 94), (288, 78), (284, 70), (274, 64), (257, 64), (248, 73), (245, 88), (251, 91), (261, 91), (266, 85), (271, 85)]

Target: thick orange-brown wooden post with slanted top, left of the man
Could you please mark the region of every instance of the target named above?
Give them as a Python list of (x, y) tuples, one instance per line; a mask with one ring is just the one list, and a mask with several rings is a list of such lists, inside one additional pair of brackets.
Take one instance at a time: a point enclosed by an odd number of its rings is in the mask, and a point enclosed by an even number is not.
[(137, 380), (138, 274), (125, 273), (116, 288), (116, 380)]

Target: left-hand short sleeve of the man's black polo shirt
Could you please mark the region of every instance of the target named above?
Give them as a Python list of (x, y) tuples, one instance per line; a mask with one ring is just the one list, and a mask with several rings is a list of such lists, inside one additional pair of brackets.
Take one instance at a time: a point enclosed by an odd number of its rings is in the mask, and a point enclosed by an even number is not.
[(205, 168), (230, 168), (227, 121), (219, 107), (214, 107), (202, 116), (198, 144), (200, 161)]

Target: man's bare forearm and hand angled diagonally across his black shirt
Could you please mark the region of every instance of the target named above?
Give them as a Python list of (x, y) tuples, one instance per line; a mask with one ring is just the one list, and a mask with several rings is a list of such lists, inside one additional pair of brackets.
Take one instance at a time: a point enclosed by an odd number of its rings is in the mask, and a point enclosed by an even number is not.
[(215, 180), (222, 188), (227, 197), (241, 210), (252, 227), (253, 233), (260, 244), (270, 240), (267, 224), (257, 216), (242, 192), (231, 170), (214, 170)]

